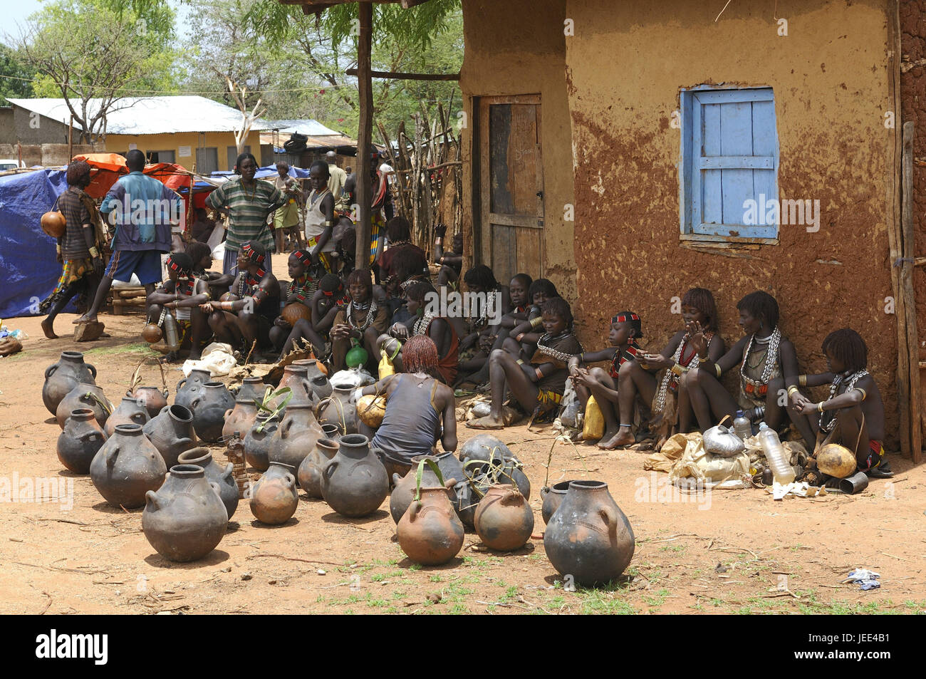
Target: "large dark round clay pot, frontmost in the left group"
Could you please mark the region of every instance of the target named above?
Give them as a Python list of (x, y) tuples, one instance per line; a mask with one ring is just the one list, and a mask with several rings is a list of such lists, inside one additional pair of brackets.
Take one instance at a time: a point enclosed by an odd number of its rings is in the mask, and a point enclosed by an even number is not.
[(202, 467), (172, 467), (164, 485), (145, 494), (142, 530), (165, 559), (202, 559), (219, 546), (228, 522), (219, 488)]

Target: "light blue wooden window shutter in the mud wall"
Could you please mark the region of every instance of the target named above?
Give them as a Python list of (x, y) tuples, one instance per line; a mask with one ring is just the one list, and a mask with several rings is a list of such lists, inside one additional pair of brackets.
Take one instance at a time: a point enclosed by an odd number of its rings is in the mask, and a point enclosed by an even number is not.
[[(706, 235), (775, 238), (763, 224), (766, 202), (778, 200), (778, 132), (771, 88), (702, 90), (691, 97), (692, 157), (686, 231)], [(758, 224), (745, 224), (744, 204), (757, 201)]]

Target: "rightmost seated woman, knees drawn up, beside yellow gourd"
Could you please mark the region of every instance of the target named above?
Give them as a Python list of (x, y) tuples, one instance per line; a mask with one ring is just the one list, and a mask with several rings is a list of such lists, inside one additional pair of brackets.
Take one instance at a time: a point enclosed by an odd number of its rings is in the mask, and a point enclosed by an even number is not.
[[(823, 340), (828, 372), (802, 375), (806, 386), (830, 383), (830, 396), (813, 403), (798, 387), (788, 387), (788, 396), (795, 405), (796, 417), (803, 418), (814, 434), (807, 438), (807, 448), (839, 444), (851, 450), (857, 460), (857, 471), (877, 478), (891, 478), (894, 472), (885, 457), (884, 403), (878, 384), (868, 371), (868, 346), (856, 331), (849, 328), (834, 331)], [(795, 421), (795, 424), (797, 422)]]

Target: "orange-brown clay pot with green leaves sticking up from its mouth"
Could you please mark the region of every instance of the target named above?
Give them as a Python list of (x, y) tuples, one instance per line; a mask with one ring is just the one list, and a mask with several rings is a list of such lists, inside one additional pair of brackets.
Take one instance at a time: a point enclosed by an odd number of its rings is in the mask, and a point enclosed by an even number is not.
[(463, 523), (440, 485), (421, 488), (421, 499), (412, 501), (396, 533), (408, 559), (423, 566), (446, 563), (463, 547)]

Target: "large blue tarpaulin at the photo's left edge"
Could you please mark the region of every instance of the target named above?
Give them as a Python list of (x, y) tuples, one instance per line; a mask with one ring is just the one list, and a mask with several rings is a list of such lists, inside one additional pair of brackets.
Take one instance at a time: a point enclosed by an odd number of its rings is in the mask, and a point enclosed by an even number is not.
[(64, 170), (0, 177), (0, 270), (6, 279), (0, 285), (0, 318), (37, 316), (39, 302), (55, 289), (61, 275), (56, 241), (42, 231), (40, 220), (67, 188)]

